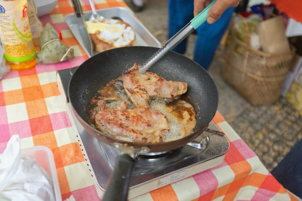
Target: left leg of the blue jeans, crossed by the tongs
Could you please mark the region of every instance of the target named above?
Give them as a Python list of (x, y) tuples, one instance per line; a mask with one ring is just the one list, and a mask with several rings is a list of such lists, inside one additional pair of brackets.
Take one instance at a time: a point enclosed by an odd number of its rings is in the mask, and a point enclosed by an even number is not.
[[(168, 39), (193, 19), (194, 0), (169, 0), (168, 2)], [(179, 43), (172, 51), (185, 53), (187, 39)]]

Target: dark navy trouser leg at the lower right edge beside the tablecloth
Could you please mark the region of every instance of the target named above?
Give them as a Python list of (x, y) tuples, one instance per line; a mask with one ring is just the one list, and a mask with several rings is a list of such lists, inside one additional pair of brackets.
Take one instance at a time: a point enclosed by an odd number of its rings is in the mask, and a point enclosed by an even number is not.
[(302, 198), (302, 140), (290, 150), (271, 174), (284, 188)]

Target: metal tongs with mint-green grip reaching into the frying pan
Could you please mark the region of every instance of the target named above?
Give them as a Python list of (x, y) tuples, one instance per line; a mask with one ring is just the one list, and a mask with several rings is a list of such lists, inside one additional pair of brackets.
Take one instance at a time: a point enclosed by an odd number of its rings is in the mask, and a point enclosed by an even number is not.
[(145, 73), (154, 63), (161, 59), (168, 51), (172, 50), (183, 39), (189, 36), (195, 29), (197, 29), (207, 19), (210, 8), (216, 2), (214, 0), (209, 6), (207, 6), (202, 12), (200, 12), (195, 18), (193, 18), (184, 28), (177, 32), (172, 38), (170, 38), (165, 45), (159, 49), (152, 57), (150, 57), (145, 63), (139, 66), (139, 73)]

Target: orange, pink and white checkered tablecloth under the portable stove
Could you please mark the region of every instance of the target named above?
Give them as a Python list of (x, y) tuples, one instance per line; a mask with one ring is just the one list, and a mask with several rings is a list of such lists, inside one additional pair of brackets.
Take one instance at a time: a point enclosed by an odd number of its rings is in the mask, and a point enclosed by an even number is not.
[[(81, 3), (84, 11), (90, 10), (89, 0)], [(95, 0), (95, 3), (97, 9), (126, 7), (117, 0)], [(74, 49), (72, 60), (12, 71), (0, 81), (0, 152), (14, 134), (20, 136), (22, 148), (46, 146), (55, 159), (62, 199), (72, 194), (77, 201), (100, 200), (56, 82), (57, 70), (77, 66), (88, 58), (64, 23), (63, 17), (69, 13), (73, 13), (71, 2), (59, 0), (54, 11), (41, 21), (61, 30), (63, 43)], [(298, 200), (274, 179), (218, 112), (214, 123), (230, 141), (230, 150), (222, 164), (132, 201)]]

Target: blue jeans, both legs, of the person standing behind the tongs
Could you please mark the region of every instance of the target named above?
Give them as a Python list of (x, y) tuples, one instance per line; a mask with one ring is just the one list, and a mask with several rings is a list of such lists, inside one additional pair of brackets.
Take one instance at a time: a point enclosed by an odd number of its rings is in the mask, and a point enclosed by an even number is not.
[[(235, 8), (227, 9), (212, 25), (204, 22), (197, 28), (197, 39), (193, 60), (208, 70), (219, 42), (229, 26)], [(194, 18), (194, 0), (169, 0), (168, 2), (168, 37), (171, 38)], [(173, 51), (185, 53), (187, 39), (178, 44)]]

